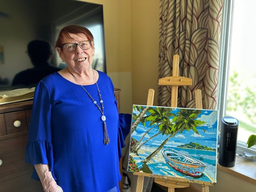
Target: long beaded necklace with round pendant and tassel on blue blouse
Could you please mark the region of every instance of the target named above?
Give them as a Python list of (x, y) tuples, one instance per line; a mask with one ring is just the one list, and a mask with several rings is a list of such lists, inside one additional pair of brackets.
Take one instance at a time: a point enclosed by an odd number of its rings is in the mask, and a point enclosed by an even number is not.
[(101, 108), (99, 107), (99, 105), (97, 104), (97, 101), (94, 100), (94, 98), (88, 93), (88, 91), (84, 88), (84, 86), (82, 86), (82, 84), (77, 80), (77, 78), (75, 77), (75, 75), (73, 75), (71, 72), (69, 72), (75, 79), (75, 81), (83, 88), (83, 90), (87, 93), (87, 95), (90, 97), (90, 99), (93, 101), (93, 103), (96, 105), (96, 107), (98, 108), (98, 110), (100, 111), (101, 113), (101, 120), (103, 121), (103, 134), (104, 134), (104, 144), (109, 144), (110, 142), (110, 139), (108, 137), (108, 131), (107, 131), (107, 126), (106, 126), (106, 116), (104, 115), (104, 107), (103, 107), (103, 100), (101, 98), (101, 95), (100, 95), (100, 92), (99, 92), (99, 87), (98, 87), (98, 84), (97, 84), (97, 81), (96, 81), (96, 77), (95, 77), (95, 74), (94, 74), (94, 71), (93, 71), (93, 76), (94, 76), (94, 80), (95, 80), (95, 83), (96, 83), (96, 86), (97, 86), (97, 90), (98, 90), (98, 95), (99, 95), (99, 102), (100, 102), (100, 105), (101, 105)]

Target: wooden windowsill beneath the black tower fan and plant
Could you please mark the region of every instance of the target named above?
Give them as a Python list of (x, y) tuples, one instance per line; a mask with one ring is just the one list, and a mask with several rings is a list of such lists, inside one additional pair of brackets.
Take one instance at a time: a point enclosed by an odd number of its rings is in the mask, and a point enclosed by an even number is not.
[(234, 167), (224, 167), (218, 163), (217, 169), (256, 185), (255, 162), (247, 161), (240, 157), (236, 157), (236, 163)]

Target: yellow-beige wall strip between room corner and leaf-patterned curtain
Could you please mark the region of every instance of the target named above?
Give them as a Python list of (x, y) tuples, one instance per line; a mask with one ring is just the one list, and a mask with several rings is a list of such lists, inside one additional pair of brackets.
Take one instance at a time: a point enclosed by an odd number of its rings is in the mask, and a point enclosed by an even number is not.
[(131, 0), (133, 104), (146, 105), (154, 89), (157, 105), (159, 0)]

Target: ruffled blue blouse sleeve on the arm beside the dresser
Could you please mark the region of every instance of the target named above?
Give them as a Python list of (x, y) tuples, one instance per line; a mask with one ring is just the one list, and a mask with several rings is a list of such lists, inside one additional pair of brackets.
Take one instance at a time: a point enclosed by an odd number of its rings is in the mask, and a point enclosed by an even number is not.
[[(25, 162), (32, 165), (48, 164), (56, 180), (53, 173), (51, 109), (49, 91), (44, 82), (40, 81), (34, 93)], [(39, 180), (35, 169), (33, 169), (32, 178)]]

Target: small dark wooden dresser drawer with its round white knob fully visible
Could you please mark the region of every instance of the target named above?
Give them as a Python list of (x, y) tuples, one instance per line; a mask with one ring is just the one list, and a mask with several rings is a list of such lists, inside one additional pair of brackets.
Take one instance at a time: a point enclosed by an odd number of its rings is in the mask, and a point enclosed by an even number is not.
[[(5, 114), (7, 134), (27, 131), (27, 119), (25, 111), (16, 111)], [(15, 123), (14, 123), (15, 122)]]

